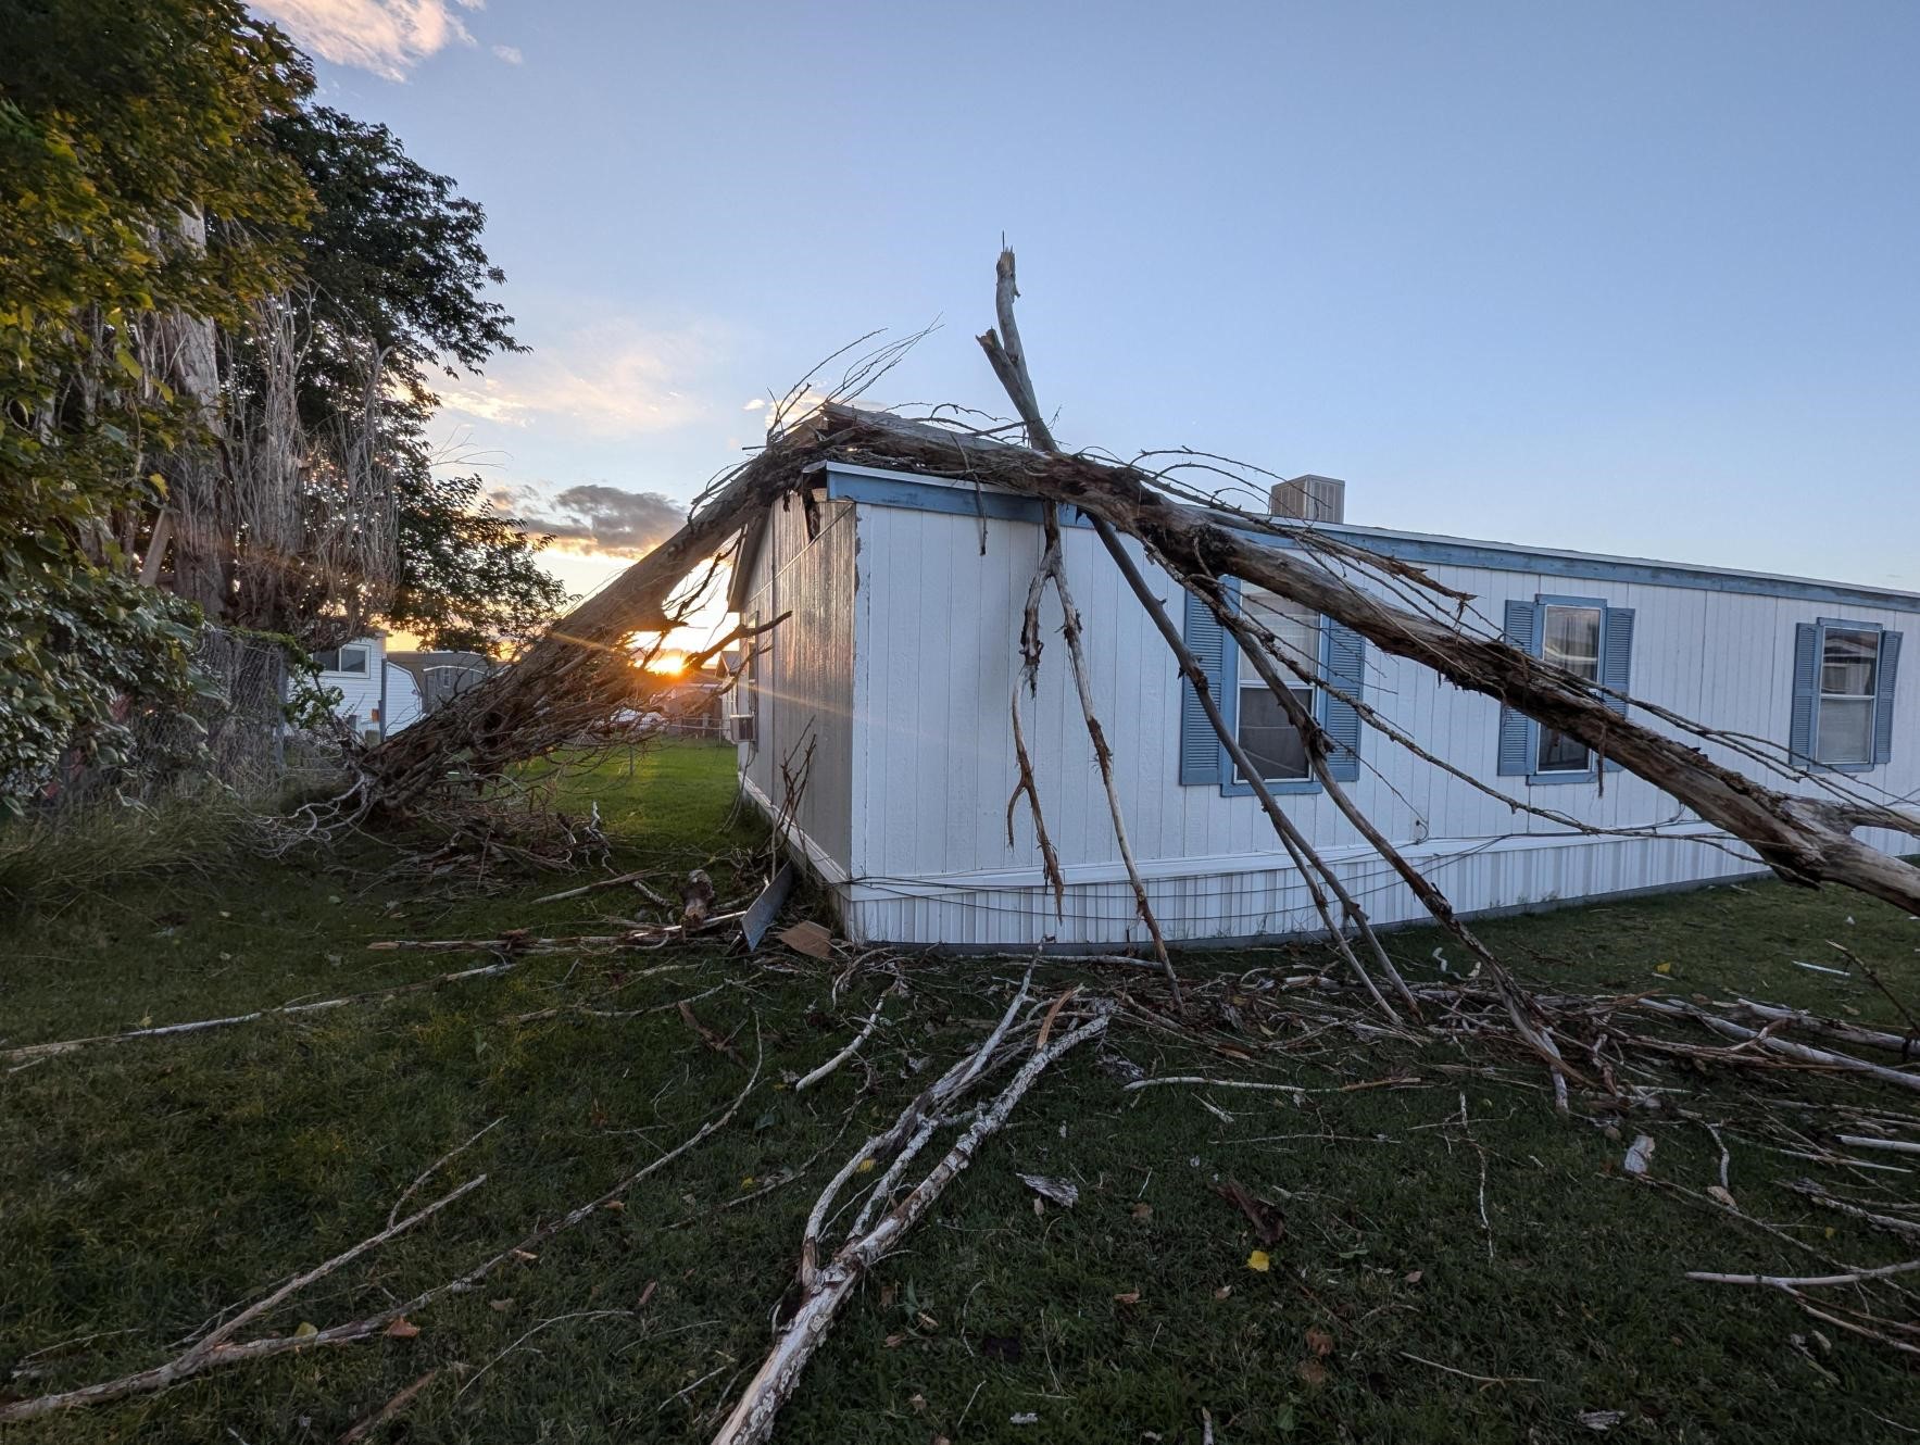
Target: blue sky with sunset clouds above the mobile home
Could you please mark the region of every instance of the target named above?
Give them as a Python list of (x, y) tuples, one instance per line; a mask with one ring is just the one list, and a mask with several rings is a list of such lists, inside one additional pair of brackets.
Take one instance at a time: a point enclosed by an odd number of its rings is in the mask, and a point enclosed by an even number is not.
[(1064, 445), (1920, 591), (1907, 0), (253, 8), (486, 205), (534, 351), (436, 441), (576, 591), (864, 332), (941, 324), (870, 401), (1004, 415), (1002, 236)]

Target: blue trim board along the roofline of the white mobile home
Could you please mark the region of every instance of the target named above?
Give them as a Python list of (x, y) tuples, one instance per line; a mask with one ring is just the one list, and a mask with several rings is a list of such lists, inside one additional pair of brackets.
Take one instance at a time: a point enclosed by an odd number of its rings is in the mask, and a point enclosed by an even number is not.
[[(1004, 522), (1039, 522), (1041, 503), (1006, 491), (985, 491), (968, 486), (941, 486), (912, 472), (887, 472), (876, 466), (826, 462), (828, 497), (866, 503), (870, 507), (904, 507), (948, 516), (987, 516)], [(1089, 526), (1077, 509), (1062, 509), (1064, 526)], [(1238, 528), (1229, 518), (1221, 526), (1273, 547), (1298, 547), (1283, 533)], [(1546, 578), (1578, 578), (1582, 581), (1628, 581), (1653, 587), (1688, 587), (1693, 591), (1743, 593), (1749, 597), (1793, 597), (1811, 603), (1841, 606), (1872, 606), (1889, 612), (1920, 612), (1920, 593), (1878, 587), (1859, 587), (1845, 581), (1814, 581), (1784, 578), (1766, 572), (1740, 572), (1692, 562), (1653, 562), (1634, 557), (1599, 557), (1528, 549), (1501, 541), (1469, 541), (1463, 537), (1434, 537), (1382, 528), (1359, 528), (1317, 522), (1317, 532), (1344, 537), (1384, 557), (1404, 562), (1434, 562), (1446, 566), (1475, 566), (1492, 572), (1530, 572)]]

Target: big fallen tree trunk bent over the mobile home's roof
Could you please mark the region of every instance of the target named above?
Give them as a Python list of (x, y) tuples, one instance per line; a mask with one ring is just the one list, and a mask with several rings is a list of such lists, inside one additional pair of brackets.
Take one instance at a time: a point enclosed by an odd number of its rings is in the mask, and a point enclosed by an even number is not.
[[(1498, 699), (1584, 743), (1753, 848), (1789, 883), (1839, 883), (1920, 912), (1920, 869), (1853, 837), (1862, 825), (1920, 837), (1920, 819), (1860, 796), (1795, 796), (1716, 764), (1684, 737), (1628, 716), (1620, 699), (1596, 683), (1532, 658), (1501, 637), (1469, 629), (1457, 620), (1457, 595), (1415, 568), (1313, 535), (1309, 528), (1177, 501), (1160, 474), (1139, 466), (1010, 445), (979, 430), (837, 401), (787, 426), (766, 451), (735, 468), (695, 509), (687, 526), (564, 618), (516, 666), (465, 695), (459, 706), (371, 750), (363, 762), (367, 800), (405, 806), (449, 770), (467, 779), (497, 773), (551, 750), (557, 737), (572, 737), (584, 720), (618, 706), (632, 689), (634, 633), (670, 626), (676, 589), (756, 512), (804, 486), (829, 459), (966, 478), (1079, 509), (1137, 539), (1175, 580), (1235, 622), (1238, 612), (1225, 593), (1229, 578), (1334, 618), (1382, 652), (1419, 662), (1457, 687)], [(1398, 601), (1356, 585), (1342, 570), (1352, 566), (1394, 580)], [(1438, 606), (1405, 604), (1409, 591), (1425, 591)], [(1442, 616), (1442, 610), (1455, 616)], [(1256, 649), (1256, 658), (1263, 652), (1269, 662), (1298, 672), (1298, 664), (1271, 656), (1271, 649)], [(1636, 706), (1699, 739), (1718, 737), (1705, 723), (1638, 700)], [(1789, 775), (1795, 771), (1774, 766)], [(1428, 906), (1436, 898), (1430, 890), (1423, 894)]]

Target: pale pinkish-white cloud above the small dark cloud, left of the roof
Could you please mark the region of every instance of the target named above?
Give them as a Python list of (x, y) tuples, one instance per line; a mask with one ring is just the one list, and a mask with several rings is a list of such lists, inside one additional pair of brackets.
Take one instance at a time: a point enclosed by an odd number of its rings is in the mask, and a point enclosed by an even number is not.
[(564, 422), (595, 438), (659, 436), (708, 413), (693, 388), (726, 345), (716, 328), (599, 324), (532, 355), (497, 357), (480, 380), (440, 391), (444, 411), (532, 428)]

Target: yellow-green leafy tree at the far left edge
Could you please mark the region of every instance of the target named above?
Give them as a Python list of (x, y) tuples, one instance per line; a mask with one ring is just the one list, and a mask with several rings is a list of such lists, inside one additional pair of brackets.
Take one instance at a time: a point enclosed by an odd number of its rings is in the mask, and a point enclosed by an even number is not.
[[(0, 804), (188, 687), (194, 608), (131, 576), (200, 411), (148, 378), (156, 317), (286, 286), (311, 203), (267, 144), (303, 58), (230, 0), (15, 0), (0, 44)], [(200, 217), (217, 246), (184, 244)], [(190, 223), (182, 226), (182, 221)]]

